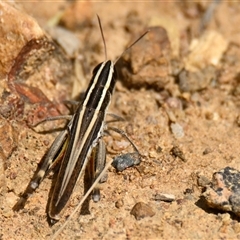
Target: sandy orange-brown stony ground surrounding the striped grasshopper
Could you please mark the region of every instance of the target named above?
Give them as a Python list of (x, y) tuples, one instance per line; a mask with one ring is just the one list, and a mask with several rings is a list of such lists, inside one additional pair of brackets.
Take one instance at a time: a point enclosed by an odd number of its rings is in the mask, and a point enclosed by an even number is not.
[[(150, 29), (117, 63), (108, 110), (126, 120), (111, 126), (126, 131), (142, 162), (123, 172), (110, 167), (101, 200), (84, 205), (57, 239), (240, 238), (239, 217), (208, 207), (198, 181), (209, 184), (227, 166), (240, 170), (239, 3), (39, 1), (0, 8), (0, 239), (52, 239), (82, 198), (81, 179), (61, 220), (49, 226), (49, 174), (24, 209), (12, 210), (65, 121), (30, 125), (68, 114), (63, 101), (83, 93), (105, 59), (96, 14), (109, 59)], [(104, 141), (108, 161), (133, 152), (116, 133)]]

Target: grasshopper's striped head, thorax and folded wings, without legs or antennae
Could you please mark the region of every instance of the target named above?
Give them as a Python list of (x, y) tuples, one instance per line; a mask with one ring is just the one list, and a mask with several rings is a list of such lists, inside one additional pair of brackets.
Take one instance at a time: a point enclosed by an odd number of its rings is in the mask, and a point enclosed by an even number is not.
[(92, 149), (103, 134), (104, 118), (116, 81), (112, 61), (99, 64), (85, 95), (85, 100), (74, 114), (69, 127), (67, 148), (62, 159), (52, 199), (49, 216), (56, 219), (81, 177)]

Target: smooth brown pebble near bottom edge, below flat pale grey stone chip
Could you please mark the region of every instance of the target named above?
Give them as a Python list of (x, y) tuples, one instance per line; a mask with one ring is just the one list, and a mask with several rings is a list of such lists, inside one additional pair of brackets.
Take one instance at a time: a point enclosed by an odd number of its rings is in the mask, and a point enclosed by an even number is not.
[(155, 215), (153, 209), (143, 202), (138, 202), (132, 208), (130, 214), (132, 214), (136, 220), (140, 220), (145, 217), (152, 217)]

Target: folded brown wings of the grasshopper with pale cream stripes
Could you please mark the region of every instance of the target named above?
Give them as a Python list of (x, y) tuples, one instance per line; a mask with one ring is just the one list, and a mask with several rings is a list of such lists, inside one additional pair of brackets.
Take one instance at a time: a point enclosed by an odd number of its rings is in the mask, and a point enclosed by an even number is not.
[(69, 144), (63, 157), (49, 205), (49, 217), (59, 219), (77, 180), (82, 176), (92, 148), (101, 136), (104, 114), (95, 109), (79, 107), (74, 115)]

